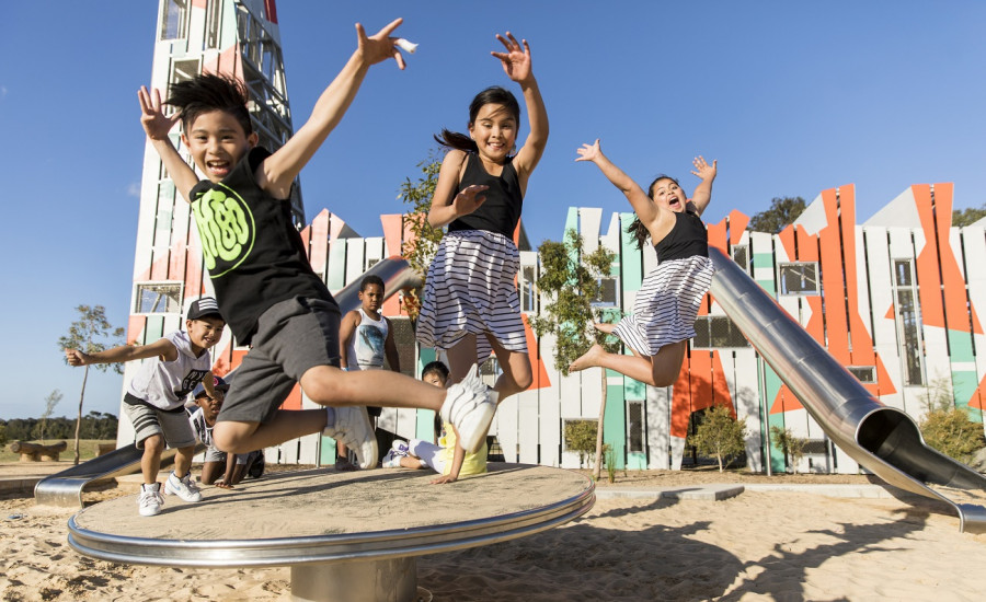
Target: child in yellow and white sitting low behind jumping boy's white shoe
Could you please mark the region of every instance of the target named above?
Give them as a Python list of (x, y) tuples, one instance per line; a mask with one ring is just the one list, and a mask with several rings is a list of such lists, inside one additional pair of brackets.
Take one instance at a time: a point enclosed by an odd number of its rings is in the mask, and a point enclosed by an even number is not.
[[(445, 389), (448, 382), (448, 368), (440, 361), (433, 361), (424, 367), (421, 380)], [(460, 476), (482, 474), (486, 472), (486, 444), (475, 453), (466, 453), (461, 445), (456, 445), (456, 429), (448, 422), (442, 425), (438, 444), (421, 439), (394, 441), (393, 448), (383, 458), (385, 468), (432, 468), (442, 476), (433, 484), (454, 483)]]

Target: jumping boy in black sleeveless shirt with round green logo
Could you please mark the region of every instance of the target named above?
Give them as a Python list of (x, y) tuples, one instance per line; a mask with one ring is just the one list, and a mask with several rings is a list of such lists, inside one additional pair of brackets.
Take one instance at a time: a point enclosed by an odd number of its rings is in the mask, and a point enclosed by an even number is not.
[[(398, 19), (367, 36), (356, 24), (358, 47), (322, 93), (308, 121), (273, 154), (256, 147), (242, 83), (203, 74), (171, 88), (165, 116), (161, 96), (141, 88), (141, 125), (182, 197), (192, 204), (203, 258), (222, 315), (251, 350), (237, 369), (237, 386), (213, 429), (216, 445), (245, 453), (322, 431), (356, 452), (362, 467), (377, 463), (368, 404), (439, 412), (456, 425), (469, 451), (479, 448), (495, 402), (475, 373), (447, 392), (390, 371), (339, 368), (340, 310), (312, 271), (290, 218), (295, 177), (356, 96), (369, 67), (404, 59), (390, 34)], [(168, 132), (181, 119), (182, 142), (198, 176)], [(278, 410), (295, 386), (326, 409)]]

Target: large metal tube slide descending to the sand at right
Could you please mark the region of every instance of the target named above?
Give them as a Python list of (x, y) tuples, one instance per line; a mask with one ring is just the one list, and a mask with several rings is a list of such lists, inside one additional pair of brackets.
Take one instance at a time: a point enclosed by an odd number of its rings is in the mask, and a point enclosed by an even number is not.
[(714, 247), (709, 256), (715, 302), (839, 449), (887, 484), (951, 506), (960, 531), (986, 532), (986, 509), (926, 485), (986, 491), (986, 477), (927, 447), (910, 416), (880, 404), (735, 262)]

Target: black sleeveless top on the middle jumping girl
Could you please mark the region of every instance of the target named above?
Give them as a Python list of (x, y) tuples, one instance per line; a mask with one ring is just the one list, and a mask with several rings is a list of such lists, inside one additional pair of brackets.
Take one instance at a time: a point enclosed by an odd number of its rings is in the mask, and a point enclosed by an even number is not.
[(524, 196), (520, 194), (520, 181), (512, 159), (507, 158), (503, 165), (503, 172), (500, 176), (495, 176), (490, 175), (483, 169), (483, 164), (475, 153), (466, 153), (466, 173), (462, 174), (459, 190), (472, 184), (490, 188), (480, 193), (486, 197), (486, 200), (480, 205), (479, 209), (449, 223), (449, 232), (488, 230), (498, 232), (507, 239), (514, 239), (514, 230), (517, 229), (517, 222), (520, 220)]

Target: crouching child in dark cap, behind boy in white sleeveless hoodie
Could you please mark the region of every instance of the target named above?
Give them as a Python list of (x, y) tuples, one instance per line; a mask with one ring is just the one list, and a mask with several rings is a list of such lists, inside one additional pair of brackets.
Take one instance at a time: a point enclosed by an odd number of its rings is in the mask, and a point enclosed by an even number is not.
[[(229, 391), (229, 384), (219, 377), (215, 377), (213, 389), (219, 391), (223, 396)], [(219, 397), (210, 397), (205, 390), (204, 383), (195, 385), (192, 392), (195, 397), (195, 405), (198, 406), (192, 410), (188, 416), (188, 422), (195, 437), (202, 444), (208, 449), (205, 452), (205, 462), (202, 465), (202, 476), (199, 482), (205, 485), (216, 485), (222, 489), (232, 489), (232, 486), (243, 481), (251, 465), (262, 462), (263, 452), (252, 451), (250, 453), (226, 453), (219, 451), (213, 442), (213, 426), (216, 424), (216, 416), (222, 407), (222, 400)]]

